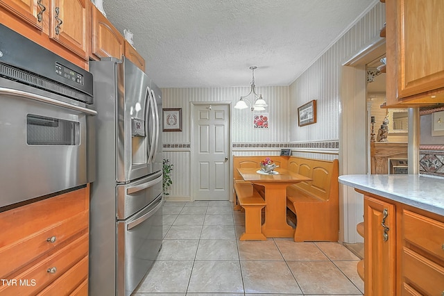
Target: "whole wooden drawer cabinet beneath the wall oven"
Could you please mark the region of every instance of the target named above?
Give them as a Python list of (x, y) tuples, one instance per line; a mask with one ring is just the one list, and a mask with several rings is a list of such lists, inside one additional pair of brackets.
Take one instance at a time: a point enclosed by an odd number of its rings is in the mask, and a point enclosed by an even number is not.
[(0, 295), (87, 295), (89, 186), (0, 213)]

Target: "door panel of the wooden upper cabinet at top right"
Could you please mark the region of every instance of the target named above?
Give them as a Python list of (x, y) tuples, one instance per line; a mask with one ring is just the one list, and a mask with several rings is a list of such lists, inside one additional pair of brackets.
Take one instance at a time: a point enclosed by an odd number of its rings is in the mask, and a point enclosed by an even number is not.
[(398, 98), (444, 88), (444, 1), (397, 3)]

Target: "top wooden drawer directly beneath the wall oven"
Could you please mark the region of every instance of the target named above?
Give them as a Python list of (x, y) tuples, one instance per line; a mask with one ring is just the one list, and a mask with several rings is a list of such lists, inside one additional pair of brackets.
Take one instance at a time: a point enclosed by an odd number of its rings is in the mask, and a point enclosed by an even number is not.
[[(0, 213), (0, 276), (19, 270), (88, 228), (87, 188)], [(46, 241), (55, 236), (54, 242)]]

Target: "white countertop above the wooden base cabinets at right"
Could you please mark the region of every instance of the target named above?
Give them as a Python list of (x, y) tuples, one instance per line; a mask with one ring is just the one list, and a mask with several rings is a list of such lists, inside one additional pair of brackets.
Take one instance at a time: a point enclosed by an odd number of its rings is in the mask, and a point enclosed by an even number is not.
[(348, 174), (339, 183), (444, 216), (444, 178), (417, 174)]

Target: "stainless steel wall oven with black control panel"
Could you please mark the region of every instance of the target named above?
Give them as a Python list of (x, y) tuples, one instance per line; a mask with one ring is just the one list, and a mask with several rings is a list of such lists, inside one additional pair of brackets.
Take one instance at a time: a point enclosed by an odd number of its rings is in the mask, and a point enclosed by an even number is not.
[(92, 83), (85, 69), (0, 24), (2, 211), (94, 180)]

